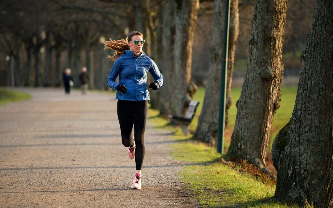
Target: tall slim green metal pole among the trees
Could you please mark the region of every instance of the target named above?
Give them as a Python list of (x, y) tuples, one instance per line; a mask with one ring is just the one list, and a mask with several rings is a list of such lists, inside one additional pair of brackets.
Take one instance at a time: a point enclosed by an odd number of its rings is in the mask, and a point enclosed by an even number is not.
[(224, 18), (224, 37), (222, 51), (222, 69), (221, 69), (221, 86), (220, 86), (220, 105), (218, 112), (218, 131), (217, 131), (217, 152), (223, 154), (223, 137), (225, 123), (225, 95), (226, 95), (226, 78), (228, 68), (228, 42), (229, 42), (229, 17), (230, 17), (230, 0), (225, 1), (225, 18)]

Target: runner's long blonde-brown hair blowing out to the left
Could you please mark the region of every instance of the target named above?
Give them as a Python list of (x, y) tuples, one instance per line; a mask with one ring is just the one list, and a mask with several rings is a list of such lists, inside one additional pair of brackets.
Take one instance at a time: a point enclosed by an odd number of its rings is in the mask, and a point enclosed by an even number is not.
[(112, 49), (115, 50), (113, 53), (113, 56), (108, 56), (109, 59), (112, 61), (116, 61), (121, 55), (125, 54), (126, 50), (130, 50), (130, 47), (128, 46), (128, 41), (132, 41), (132, 37), (135, 35), (139, 35), (142, 38), (144, 35), (138, 31), (133, 31), (130, 32), (130, 34), (127, 35), (126, 39), (121, 39), (121, 40), (112, 40), (110, 38), (110, 41), (105, 41), (104, 42), (104, 50), (105, 49)]

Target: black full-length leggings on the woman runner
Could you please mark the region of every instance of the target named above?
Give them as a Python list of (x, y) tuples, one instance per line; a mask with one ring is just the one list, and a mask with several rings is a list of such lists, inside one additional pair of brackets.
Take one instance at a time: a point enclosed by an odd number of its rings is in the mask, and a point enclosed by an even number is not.
[(147, 101), (123, 101), (118, 100), (118, 120), (124, 146), (134, 145), (132, 128), (134, 124), (135, 139), (135, 164), (137, 170), (141, 170), (145, 157), (145, 130), (148, 117)]

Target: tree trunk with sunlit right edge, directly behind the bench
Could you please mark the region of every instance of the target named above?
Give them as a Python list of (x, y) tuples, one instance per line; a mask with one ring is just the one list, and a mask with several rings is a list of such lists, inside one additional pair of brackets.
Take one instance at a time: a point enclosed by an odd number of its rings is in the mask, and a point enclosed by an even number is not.
[(173, 115), (182, 116), (190, 98), (187, 85), (191, 81), (192, 45), (196, 26), (199, 0), (175, 1), (175, 41), (174, 41), (174, 90), (172, 93)]

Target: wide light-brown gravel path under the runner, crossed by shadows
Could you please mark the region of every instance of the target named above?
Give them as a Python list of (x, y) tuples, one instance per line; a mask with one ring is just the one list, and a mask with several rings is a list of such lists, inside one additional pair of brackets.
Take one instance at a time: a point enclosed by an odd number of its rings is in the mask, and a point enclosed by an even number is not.
[(170, 132), (148, 126), (141, 190), (121, 143), (117, 101), (104, 93), (16, 89), (0, 106), (0, 207), (196, 207), (169, 154)]

